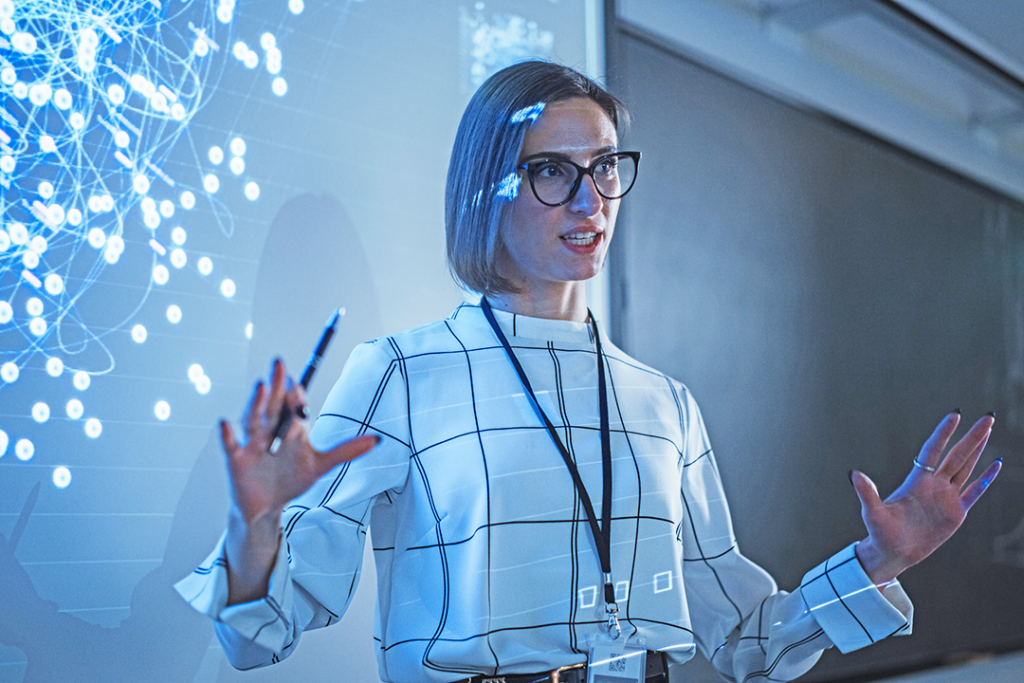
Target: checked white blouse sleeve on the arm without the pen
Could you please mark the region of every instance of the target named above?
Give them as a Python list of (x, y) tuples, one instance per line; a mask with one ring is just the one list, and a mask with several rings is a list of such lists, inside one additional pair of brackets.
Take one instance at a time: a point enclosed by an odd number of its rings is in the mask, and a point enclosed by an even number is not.
[(684, 582), (694, 640), (729, 681), (795, 679), (822, 650), (849, 652), (908, 634), (912, 605), (898, 582), (876, 588), (843, 549), (807, 572), (793, 593), (738, 550), (718, 465), (696, 403), (688, 413), (681, 495)]

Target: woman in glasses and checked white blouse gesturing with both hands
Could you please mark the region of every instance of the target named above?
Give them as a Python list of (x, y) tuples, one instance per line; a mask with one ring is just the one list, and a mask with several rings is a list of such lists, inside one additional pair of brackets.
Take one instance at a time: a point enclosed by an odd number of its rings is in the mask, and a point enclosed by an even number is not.
[(257, 385), (248, 442), (222, 424), (227, 532), (179, 591), (236, 667), (276, 661), (338, 618), (368, 526), (385, 681), (584, 681), (588, 663), (640, 681), (644, 659), (646, 680), (667, 680), (697, 648), (729, 679), (785, 680), (834, 644), (908, 632), (895, 579), (998, 472), (965, 488), (994, 419), (943, 458), (959, 419), (947, 416), (885, 503), (854, 473), (867, 537), (778, 591), (736, 548), (689, 392), (587, 309), (639, 159), (618, 152), (626, 120), (563, 67), (492, 77), (446, 191), (449, 263), (480, 303), (356, 348), (308, 440), (296, 422), (268, 453), (282, 405), (303, 401), (280, 362)]

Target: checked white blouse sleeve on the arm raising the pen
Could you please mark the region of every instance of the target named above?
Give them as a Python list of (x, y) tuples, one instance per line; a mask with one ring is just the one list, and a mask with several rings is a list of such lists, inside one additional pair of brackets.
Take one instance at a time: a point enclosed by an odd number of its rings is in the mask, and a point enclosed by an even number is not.
[(383, 342), (352, 352), (316, 418), (309, 440), (328, 450), (360, 434), (382, 437), (373, 451), (324, 475), (282, 515), (282, 538), (267, 595), (227, 606), (224, 541), (175, 586), (211, 617), (237, 669), (290, 655), (306, 629), (338, 621), (355, 593), (372, 508), (400, 490), (409, 470), (408, 393)]

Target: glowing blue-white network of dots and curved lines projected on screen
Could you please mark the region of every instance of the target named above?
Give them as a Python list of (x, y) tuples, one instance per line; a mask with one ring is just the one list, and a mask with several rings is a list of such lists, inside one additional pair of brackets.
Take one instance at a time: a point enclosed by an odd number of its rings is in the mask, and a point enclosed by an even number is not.
[[(285, 16), (304, 8), (280, 4)], [(31, 434), (4, 424), (20, 424), (7, 419), (20, 409), (4, 404), (5, 389), (30, 373), (69, 383), (74, 397), (35, 402), (30, 424), (79, 421), (82, 438), (98, 438), (103, 416), (88, 389), (117, 365), (112, 335), (145, 343), (135, 317), (155, 289), (187, 273), (236, 295), (215, 258), (190, 253), (188, 216), (208, 207), (229, 234), (229, 207), (258, 202), (260, 179), (247, 169), (244, 136), (195, 150), (189, 125), (227, 70), (259, 70), (268, 93), (288, 91), (274, 34), (252, 36), (252, 46), (237, 39), (236, 12), (233, 0), (0, 0), (0, 457), (36, 452)], [(182, 146), (195, 164), (169, 168)], [(126, 263), (138, 274), (127, 283), (118, 275)], [(127, 294), (96, 325), (90, 290), (111, 279)], [(170, 325), (186, 314), (177, 304), (163, 311)], [(187, 374), (198, 393), (210, 391), (202, 365)], [(157, 401), (153, 417), (171, 410)], [(57, 467), (52, 478), (65, 487), (71, 472)]]

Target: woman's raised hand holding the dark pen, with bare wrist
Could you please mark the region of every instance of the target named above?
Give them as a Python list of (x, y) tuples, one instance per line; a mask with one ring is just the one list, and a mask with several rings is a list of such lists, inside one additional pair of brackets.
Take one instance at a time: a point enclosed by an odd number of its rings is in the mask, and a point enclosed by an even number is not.
[(231, 495), (225, 541), (229, 605), (266, 595), (285, 506), (332, 468), (380, 441), (378, 436), (357, 436), (322, 453), (309, 444), (305, 424), (293, 419), (276, 453), (271, 454), (282, 407), (295, 415), (304, 403), (301, 386), (291, 382), (284, 364), (276, 359), (269, 390), (258, 382), (243, 415), (245, 444), (238, 442), (226, 421), (220, 422)]

